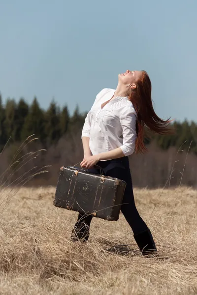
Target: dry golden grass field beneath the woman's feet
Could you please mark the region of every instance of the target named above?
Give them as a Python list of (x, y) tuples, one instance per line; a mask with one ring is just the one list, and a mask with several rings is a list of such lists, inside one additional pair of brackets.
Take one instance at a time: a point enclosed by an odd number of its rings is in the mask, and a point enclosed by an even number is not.
[(135, 189), (156, 258), (140, 256), (124, 217), (95, 218), (72, 243), (76, 213), (53, 206), (55, 188), (0, 191), (0, 295), (197, 294), (197, 191)]

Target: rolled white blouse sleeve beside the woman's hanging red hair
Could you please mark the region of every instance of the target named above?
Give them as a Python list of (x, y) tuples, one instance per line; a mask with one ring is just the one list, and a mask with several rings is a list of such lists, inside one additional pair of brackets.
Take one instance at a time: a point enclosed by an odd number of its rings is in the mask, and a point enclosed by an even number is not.
[(125, 156), (131, 155), (135, 150), (136, 140), (136, 115), (135, 110), (130, 108), (120, 116), (123, 130), (123, 145), (120, 147)]

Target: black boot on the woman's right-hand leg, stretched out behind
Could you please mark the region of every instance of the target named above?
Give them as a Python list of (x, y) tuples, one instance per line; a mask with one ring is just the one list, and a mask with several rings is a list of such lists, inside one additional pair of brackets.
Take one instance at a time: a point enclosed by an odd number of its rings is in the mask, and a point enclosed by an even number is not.
[(134, 235), (134, 239), (142, 255), (153, 256), (157, 254), (157, 248), (149, 229), (138, 235)]

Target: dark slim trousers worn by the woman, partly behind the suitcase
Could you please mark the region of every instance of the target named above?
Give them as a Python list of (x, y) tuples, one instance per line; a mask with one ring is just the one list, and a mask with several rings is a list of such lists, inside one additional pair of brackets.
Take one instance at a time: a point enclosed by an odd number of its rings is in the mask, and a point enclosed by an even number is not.
[[(129, 158), (123, 157), (107, 161), (99, 161), (97, 165), (102, 168), (105, 176), (117, 177), (126, 181), (127, 185), (123, 197), (121, 211), (131, 226), (134, 235), (138, 235), (141, 232), (146, 231), (148, 227), (140, 217), (137, 208), (135, 207)], [(100, 169), (98, 166), (95, 166), (95, 168), (88, 169), (88, 172), (100, 174)], [(85, 222), (88, 226), (90, 226), (92, 218), (93, 217), (91, 215), (87, 216), (79, 214), (78, 216), (78, 220), (80, 220), (80, 222)]]

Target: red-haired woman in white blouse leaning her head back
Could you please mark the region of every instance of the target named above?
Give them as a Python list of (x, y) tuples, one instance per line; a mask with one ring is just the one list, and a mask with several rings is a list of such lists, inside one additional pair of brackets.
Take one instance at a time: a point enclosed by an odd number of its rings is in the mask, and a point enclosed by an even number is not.
[[(100, 174), (100, 166), (106, 176), (127, 183), (121, 211), (143, 255), (155, 253), (157, 249), (150, 230), (135, 207), (128, 156), (146, 151), (143, 142), (145, 126), (153, 132), (166, 134), (170, 132), (169, 123), (154, 112), (148, 74), (127, 70), (118, 75), (116, 90), (99, 92), (82, 130), (84, 159), (81, 167)], [(92, 218), (79, 214), (72, 232), (73, 240), (88, 240)]]

